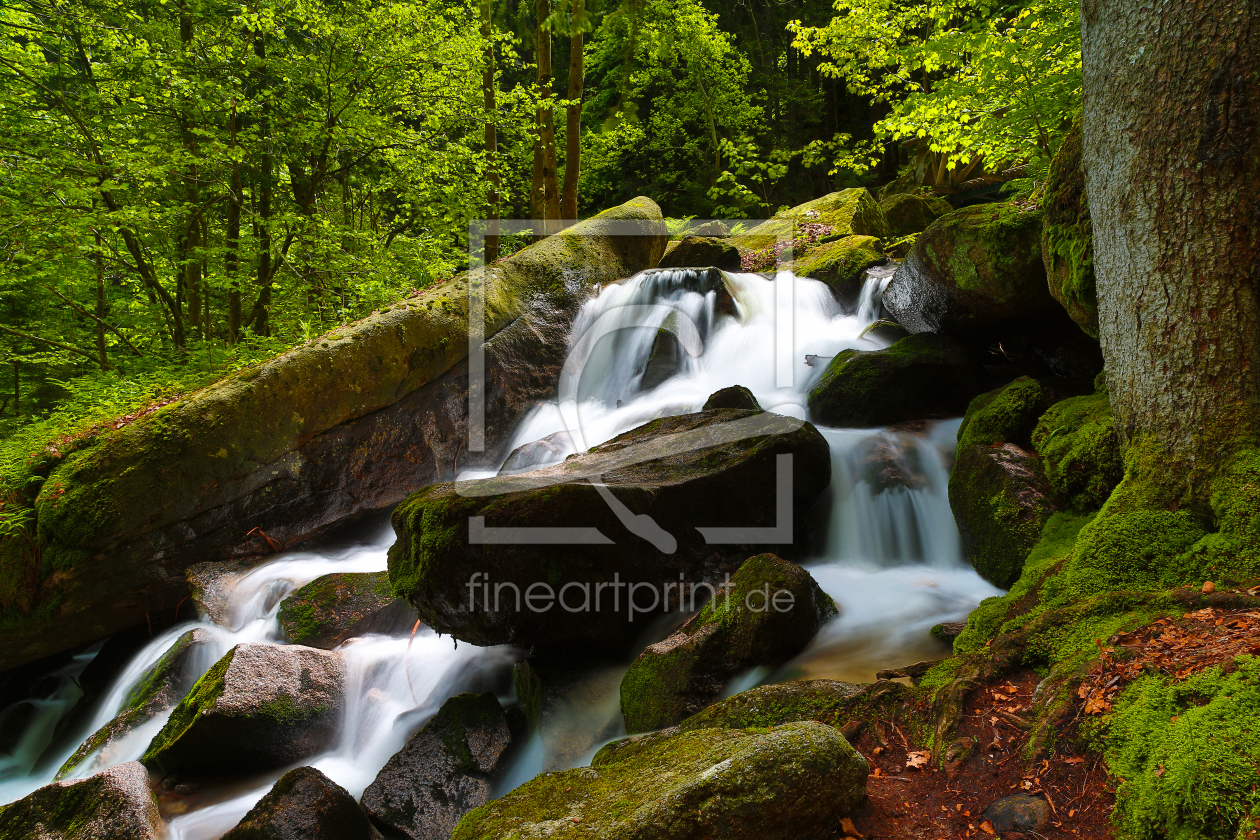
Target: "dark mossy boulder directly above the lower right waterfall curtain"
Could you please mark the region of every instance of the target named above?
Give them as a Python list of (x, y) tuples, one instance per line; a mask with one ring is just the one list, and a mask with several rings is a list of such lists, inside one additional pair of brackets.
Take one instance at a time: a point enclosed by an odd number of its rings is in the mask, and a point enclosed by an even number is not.
[(944, 335), (910, 335), (883, 350), (844, 350), (809, 392), (824, 426), (890, 426), (956, 417), (988, 384), (984, 369)]

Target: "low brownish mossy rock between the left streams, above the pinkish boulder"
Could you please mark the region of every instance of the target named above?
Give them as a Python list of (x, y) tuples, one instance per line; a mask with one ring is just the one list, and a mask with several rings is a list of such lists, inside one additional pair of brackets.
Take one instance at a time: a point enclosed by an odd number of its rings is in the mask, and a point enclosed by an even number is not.
[(389, 588), (386, 572), (325, 574), (280, 604), (285, 641), (333, 650), (346, 639), (399, 633), (416, 623), (416, 611)]

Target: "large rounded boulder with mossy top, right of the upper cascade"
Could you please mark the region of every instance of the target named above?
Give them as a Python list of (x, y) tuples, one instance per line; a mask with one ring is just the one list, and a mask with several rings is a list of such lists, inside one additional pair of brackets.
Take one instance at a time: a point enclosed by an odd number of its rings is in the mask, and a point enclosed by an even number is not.
[(987, 343), (1060, 307), (1046, 287), (1041, 212), (978, 204), (936, 219), (883, 292), (911, 332)]

